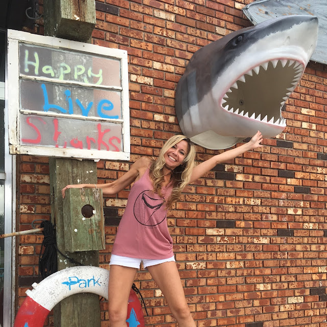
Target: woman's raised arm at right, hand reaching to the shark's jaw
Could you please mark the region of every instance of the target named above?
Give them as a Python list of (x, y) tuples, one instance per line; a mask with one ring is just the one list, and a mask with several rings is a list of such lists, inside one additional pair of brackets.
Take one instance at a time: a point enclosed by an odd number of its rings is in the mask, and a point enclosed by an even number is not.
[(210, 159), (201, 162), (201, 164), (199, 164), (193, 169), (190, 183), (202, 177), (208, 171), (211, 171), (216, 165), (220, 164), (221, 162), (236, 158), (237, 156), (243, 154), (246, 151), (261, 148), (261, 142), (262, 134), (260, 131), (258, 131), (248, 143), (245, 143), (237, 148), (225, 151), (223, 153), (217, 154), (211, 157)]

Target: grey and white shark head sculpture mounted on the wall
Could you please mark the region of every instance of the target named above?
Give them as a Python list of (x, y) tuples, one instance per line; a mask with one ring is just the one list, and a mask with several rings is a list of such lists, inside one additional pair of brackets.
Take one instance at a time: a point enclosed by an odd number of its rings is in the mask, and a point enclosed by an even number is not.
[(183, 134), (226, 149), (260, 130), (281, 133), (282, 107), (302, 77), (318, 37), (318, 19), (266, 20), (203, 46), (180, 78), (175, 108)]

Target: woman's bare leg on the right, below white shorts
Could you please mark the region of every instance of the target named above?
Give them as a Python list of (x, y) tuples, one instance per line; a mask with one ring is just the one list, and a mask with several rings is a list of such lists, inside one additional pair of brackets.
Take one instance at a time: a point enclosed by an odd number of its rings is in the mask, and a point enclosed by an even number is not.
[(195, 327), (186, 303), (179, 273), (174, 261), (148, 267), (152, 278), (164, 294), (179, 327)]

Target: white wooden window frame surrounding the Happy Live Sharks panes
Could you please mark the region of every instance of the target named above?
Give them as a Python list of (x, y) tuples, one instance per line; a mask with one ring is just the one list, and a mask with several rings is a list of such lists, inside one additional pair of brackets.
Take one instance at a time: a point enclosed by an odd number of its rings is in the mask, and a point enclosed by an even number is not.
[[(112, 123), (122, 124), (123, 151), (103, 151), (86, 150), (71, 148), (54, 148), (35, 145), (21, 145), (19, 142), (20, 131), (20, 105), (19, 105), (19, 43), (27, 43), (37, 46), (46, 46), (67, 51), (81, 52), (88, 55), (100, 55), (108, 58), (119, 59), (121, 62), (122, 79), (122, 119), (105, 120)], [(130, 159), (130, 121), (129, 121), (129, 95), (128, 95), (128, 67), (127, 51), (119, 49), (110, 49), (103, 46), (60, 39), (52, 36), (35, 35), (27, 32), (8, 30), (8, 109), (9, 109), (9, 145), (11, 154), (32, 154), (51, 157), (73, 157), (82, 159), (109, 159), (109, 160), (129, 160)], [(49, 82), (49, 78), (37, 77), (36, 80)], [(66, 82), (67, 83), (67, 82)], [(74, 83), (74, 85), (85, 86), (83, 83)], [(46, 112), (33, 112), (33, 114), (48, 115)], [(62, 114), (54, 113), (53, 116), (62, 117)], [(85, 120), (85, 117), (83, 118)]]

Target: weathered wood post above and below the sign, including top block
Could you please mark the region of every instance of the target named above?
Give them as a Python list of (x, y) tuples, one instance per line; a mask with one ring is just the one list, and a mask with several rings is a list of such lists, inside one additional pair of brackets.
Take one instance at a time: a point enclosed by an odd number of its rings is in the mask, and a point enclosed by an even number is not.
[[(89, 42), (95, 24), (95, 0), (44, 0), (45, 35)], [(61, 189), (67, 184), (96, 182), (97, 165), (95, 161), (50, 158), (51, 207), (52, 219), (56, 224), (57, 246), (64, 254), (88, 266), (99, 265), (98, 250), (66, 251), (67, 248), (72, 250), (74, 247), (72, 247), (72, 240), (65, 242), (64, 238), (67, 222), (64, 221), (64, 203)], [(68, 202), (72, 200), (72, 197), (69, 197), (70, 193), (67, 194), (68, 201), (65, 199), (67, 202), (65, 206), (67, 207), (69, 207)], [(102, 197), (99, 199), (99, 203), (101, 201)], [(68, 218), (66, 217), (66, 219)], [(58, 269), (61, 270), (70, 266), (72, 264), (61, 258), (59, 254)], [(99, 297), (95, 294), (83, 293), (68, 297), (55, 307), (54, 312), (56, 327), (100, 326)]]

